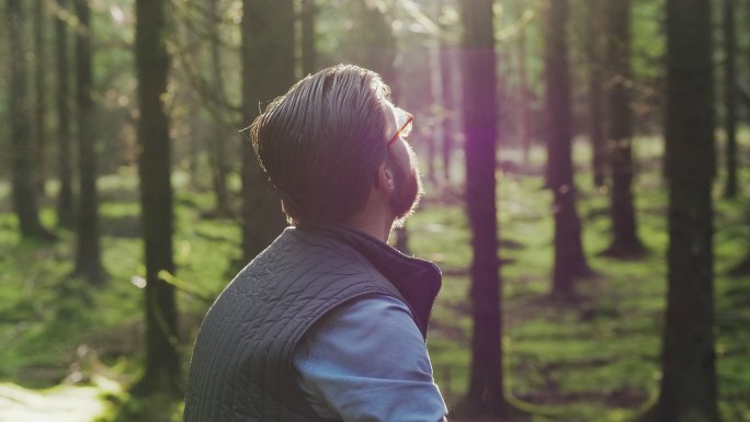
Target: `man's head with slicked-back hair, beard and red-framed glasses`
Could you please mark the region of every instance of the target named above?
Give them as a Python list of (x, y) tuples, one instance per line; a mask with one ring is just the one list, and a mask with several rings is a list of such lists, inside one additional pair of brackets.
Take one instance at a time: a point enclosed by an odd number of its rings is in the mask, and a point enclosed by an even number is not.
[(297, 82), (252, 123), (289, 221), (345, 221), (383, 184), (394, 218), (411, 212), (421, 185), (411, 149), (400, 137), (389, 142), (404, 112), (388, 94), (377, 73), (339, 65)]

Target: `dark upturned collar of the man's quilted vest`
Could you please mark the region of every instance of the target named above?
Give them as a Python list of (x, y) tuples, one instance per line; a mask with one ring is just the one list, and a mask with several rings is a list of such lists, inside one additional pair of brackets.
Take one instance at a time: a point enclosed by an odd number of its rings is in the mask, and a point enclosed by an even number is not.
[(405, 255), (387, 243), (340, 223), (304, 223), (297, 225), (297, 229), (333, 238), (365, 256), (404, 296), (422, 337), (427, 337), (432, 306), (442, 285), (438, 265)]

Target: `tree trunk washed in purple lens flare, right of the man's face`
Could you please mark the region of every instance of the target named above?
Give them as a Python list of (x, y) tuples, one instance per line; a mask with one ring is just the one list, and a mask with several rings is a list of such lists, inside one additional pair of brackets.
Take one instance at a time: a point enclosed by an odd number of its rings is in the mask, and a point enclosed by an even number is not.
[(495, 157), (496, 53), (491, 0), (463, 0), (463, 90), (466, 133), (466, 206), (471, 226), (471, 373), (467, 404), (503, 415), (502, 318)]

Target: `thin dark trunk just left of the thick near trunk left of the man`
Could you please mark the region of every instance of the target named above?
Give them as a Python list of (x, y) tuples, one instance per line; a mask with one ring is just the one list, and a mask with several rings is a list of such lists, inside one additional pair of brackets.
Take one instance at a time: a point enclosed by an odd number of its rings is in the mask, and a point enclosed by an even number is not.
[(93, 284), (104, 280), (99, 244), (99, 198), (96, 194), (96, 155), (94, 133), (93, 76), (91, 65), (91, 9), (88, 0), (76, 0), (76, 76), (78, 102), (78, 202), (77, 275)]

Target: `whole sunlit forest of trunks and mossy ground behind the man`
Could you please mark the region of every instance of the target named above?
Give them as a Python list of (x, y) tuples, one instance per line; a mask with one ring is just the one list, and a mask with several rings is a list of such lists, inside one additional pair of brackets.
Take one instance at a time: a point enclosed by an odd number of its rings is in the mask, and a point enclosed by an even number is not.
[(378, 72), (450, 421), (750, 422), (750, 0), (0, 0), (0, 421), (182, 421), (284, 228), (246, 128)]

